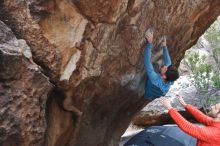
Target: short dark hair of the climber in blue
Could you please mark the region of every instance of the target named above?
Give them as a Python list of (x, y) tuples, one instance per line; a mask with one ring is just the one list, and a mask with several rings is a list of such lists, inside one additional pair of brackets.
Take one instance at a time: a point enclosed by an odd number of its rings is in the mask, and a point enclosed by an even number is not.
[(166, 81), (175, 81), (179, 78), (179, 72), (177, 68), (173, 65), (168, 66), (166, 71)]

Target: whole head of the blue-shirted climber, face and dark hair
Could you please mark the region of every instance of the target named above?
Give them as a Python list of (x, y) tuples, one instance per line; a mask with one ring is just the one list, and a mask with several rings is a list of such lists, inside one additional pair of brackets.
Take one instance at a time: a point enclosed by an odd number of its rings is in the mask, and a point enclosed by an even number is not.
[(162, 66), (160, 70), (160, 75), (161, 78), (164, 79), (165, 81), (175, 81), (179, 78), (179, 72), (178, 69), (173, 66)]

